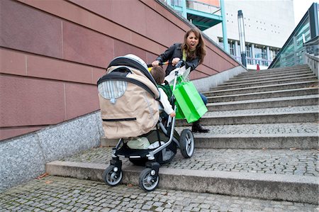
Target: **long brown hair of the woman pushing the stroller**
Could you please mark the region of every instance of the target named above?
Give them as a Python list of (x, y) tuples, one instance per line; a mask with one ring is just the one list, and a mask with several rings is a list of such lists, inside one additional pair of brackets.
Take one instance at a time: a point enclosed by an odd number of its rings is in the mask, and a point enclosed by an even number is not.
[[(196, 46), (196, 52), (193, 53), (190, 51), (189, 46), (186, 44), (187, 37), (189, 37), (190, 33), (194, 33), (198, 38), (198, 45)], [(201, 35), (201, 31), (197, 28), (191, 28), (184, 35), (184, 43), (181, 44), (181, 50), (185, 50), (188, 59), (194, 59), (196, 57), (199, 58), (199, 64), (203, 62), (203, 58), (206, 55), (205, 43), (203, 41), (203, 37)]]

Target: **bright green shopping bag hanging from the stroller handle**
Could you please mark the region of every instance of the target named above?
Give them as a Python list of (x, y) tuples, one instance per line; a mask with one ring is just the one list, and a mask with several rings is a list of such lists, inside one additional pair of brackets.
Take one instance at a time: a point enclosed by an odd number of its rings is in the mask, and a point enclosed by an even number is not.
[(208, 111), (193, 82), (177, 84), (173, 94), (188, 123), (197, 121)]

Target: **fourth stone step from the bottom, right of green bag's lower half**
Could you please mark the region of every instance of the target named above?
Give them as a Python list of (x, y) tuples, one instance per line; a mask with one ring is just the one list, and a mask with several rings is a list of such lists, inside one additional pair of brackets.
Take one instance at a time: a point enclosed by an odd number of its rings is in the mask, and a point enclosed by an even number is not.
[(208, 103), (208, 111), (235, 111), (257, 108), (279, 108), (291, 106), (316, 106), (319, 104), (319, 95), (287, 96), (268, 99), (251, 99), (245, 101)]

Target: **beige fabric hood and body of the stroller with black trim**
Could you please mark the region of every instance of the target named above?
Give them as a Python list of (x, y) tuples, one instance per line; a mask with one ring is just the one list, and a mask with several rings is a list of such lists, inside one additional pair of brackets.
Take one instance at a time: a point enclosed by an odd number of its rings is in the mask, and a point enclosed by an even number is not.
[(148, 133), (159, 119), (156, 82), (140, 58), (116, 57), (98, 84), (106, 138), (130, 138)]

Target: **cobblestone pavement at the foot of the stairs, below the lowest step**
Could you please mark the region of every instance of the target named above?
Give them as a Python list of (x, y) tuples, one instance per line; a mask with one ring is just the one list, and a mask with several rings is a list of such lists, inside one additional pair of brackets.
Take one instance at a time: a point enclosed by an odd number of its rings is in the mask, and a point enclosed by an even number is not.
[(0, 194), (1, 211), (319, 211), (318, 206), (48, 176)]

